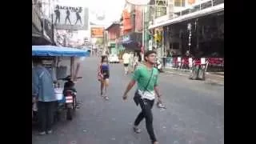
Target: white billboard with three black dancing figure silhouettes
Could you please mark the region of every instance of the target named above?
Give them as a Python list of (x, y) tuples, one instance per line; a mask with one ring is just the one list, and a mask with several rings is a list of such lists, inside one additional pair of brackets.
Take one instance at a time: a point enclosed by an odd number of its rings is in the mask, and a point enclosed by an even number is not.
[(88, 8), (54, 5), (54, 25), (58, 30), (88, 30)]

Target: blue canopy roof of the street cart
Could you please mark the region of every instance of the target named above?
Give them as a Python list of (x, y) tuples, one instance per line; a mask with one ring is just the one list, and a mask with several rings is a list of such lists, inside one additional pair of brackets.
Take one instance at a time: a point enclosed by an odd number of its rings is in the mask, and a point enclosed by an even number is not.
[(32, 56), (86, 57), (89, 49), (80, 50), (61, 46), (32, 46)]

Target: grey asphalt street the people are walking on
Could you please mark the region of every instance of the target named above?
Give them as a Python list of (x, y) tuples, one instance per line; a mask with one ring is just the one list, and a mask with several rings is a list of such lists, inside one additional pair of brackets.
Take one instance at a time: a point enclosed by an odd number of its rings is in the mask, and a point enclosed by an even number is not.
[[(32, 129), (33, 144), (150, 144), (145, 120), (141, 134), (132, 125), (140, 111), (130, 90), (128, 102), (122, 94), (130, 81), (122, 64), (110, 65), (110, 87), (105, 101), (99, 94), (99, 58), (82, 62), (76, 88), (82, 102), (73, 121), (64, 118), (54, 125), (54, 133), (38, 136)], [(188, 78), (160, 74), (160, 90), (166, 110), (153, 108), (154, 131), (160, 144), (224, 144), (224, 86), (214, 86)]]

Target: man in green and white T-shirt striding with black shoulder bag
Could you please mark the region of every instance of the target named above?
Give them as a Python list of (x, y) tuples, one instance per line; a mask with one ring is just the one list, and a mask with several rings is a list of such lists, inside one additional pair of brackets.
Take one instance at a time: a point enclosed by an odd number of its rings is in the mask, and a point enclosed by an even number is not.
[(139, 97), (138, 103), (141, 106), (142, 111), (135, 119), (134, 132), (141, 132), (141, 130), (138, 128), (138, 125), (140, 122), (142, 122), (142, 119), (145, 118), (146, 130), (150, 135), (150, 139), (153, 144), (158, 144), (158, 141), (154, 135), (153, 115), (151, 111), (152, 107), (154, 106), (155, 94), (158, 95), (158, 102), (162, 103), (161, 94), (159, 94), (158, 89), (158, 70), (154, 68), (154, 63), (156, 62), (156, 52), (149, 50), (146, 52), (144, 57), (146, 61), (145, 64), (138, 66), (138, 68), (134, 71), (134, 76), (127, 86), (122, 98), (123, 100), (126, 100), (128, 92), (134, 86), (135, 82), (138, 82), (138, 90), (136, 91), (135, 96), (137, 95)]

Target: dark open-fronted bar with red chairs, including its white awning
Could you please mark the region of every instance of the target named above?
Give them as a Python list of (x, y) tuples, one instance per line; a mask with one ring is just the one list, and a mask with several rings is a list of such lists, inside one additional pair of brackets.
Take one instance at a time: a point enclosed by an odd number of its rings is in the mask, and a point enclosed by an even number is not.
[(191, 62), (206, 58), (209, 71), (213, 67), (224, 70), (224, 4), (181, 15), (150, 29), (159, 26), (164, 30), (166, 67), (189, 69)]

